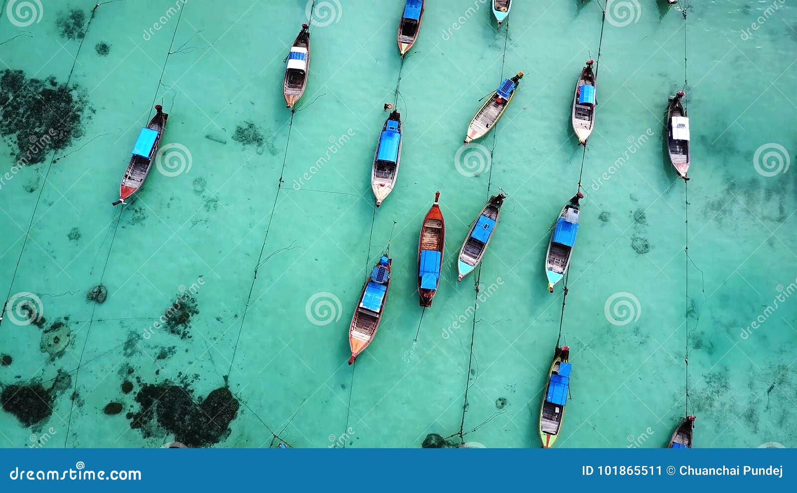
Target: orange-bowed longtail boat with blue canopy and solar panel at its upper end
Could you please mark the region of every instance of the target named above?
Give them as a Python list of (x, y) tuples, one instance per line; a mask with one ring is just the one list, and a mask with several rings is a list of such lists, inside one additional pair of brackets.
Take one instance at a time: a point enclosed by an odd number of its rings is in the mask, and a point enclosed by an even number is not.
[(349, 346), (351, 358), (349, 365), (362, 353), (368, 344), (374, 340), (379, 329), (379, 321), (387, 301), (387, 288), (391, 284), (391, 264), (393, 259), (387, 252), (379, 258), (368, 279), (363, 286), (363, 294), (359, 296), (359, 303), (351, 318), (349, 327)]

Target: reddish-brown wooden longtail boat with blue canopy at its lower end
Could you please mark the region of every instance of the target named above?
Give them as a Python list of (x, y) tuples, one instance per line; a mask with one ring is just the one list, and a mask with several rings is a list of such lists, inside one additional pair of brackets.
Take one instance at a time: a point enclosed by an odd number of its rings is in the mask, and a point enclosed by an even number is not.
[(422, 307), (431, 307), (434, 293), (440, 285), (443, 267), (443, 248), (446, 246), (446, 221), (440, 212), (440, 192), (434, 193), (432, 204), (423, 218), (418, 240), (418, 295)]

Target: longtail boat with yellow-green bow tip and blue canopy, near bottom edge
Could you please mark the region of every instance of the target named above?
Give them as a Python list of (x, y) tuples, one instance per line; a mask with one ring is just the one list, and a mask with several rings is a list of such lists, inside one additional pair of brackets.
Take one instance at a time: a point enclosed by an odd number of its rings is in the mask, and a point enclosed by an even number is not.
[(570, 348), (557, 347), (553, 354), (548, 384), (540, 405), (540, 440), (543, 448), (552, 448), (562, 431), (567, 393), (570, 392)]

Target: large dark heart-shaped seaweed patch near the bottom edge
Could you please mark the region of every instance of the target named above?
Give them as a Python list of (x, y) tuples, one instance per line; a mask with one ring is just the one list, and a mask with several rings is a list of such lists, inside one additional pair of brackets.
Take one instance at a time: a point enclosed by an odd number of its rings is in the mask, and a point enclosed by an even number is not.
[(188, 447), (206, 447), (230, 436), (230, 423), (238, 414), (238, 399), (226, 387), (211, 391), (205, 399), (194, 401), (193, 391), (164, 382), (144, 384), (135, 401), (141, 405), (133, 413), (130, 428), (140, 429), (144, 438), (173, 434), (175, 441)]

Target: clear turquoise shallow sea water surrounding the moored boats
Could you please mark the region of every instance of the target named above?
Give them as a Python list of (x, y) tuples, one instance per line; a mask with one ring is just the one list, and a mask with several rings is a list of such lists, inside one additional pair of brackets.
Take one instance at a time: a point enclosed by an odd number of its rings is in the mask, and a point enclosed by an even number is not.
[[(12, 299), (0, 354), (13, 358), (0, 385), (40, 385), (49, 411), (31, 425), (0, 413), (2, 446), (160, 447), (181, 433), (131, 423), (149, 407), (147, 384), (164, 382), (196, 403), (230, 389), (237, 405), (174, 411), (222, 423), (204, 446), (419, 447), (430, 433), (453, 446), (540, 445), (562, 311), (544, 256), (579, 181), (571, 97), (583, 62), (598, 57), (598, 2), (517, 1), (497, 31), (479, 0), (432, 0), (403, 65), (403, 2), (317, 2), (311, 78), (294, 115), (282, 61), (308, 18), (304, 1), (190, 0), (171, 11), (175, 2), (122, 1), (93, 15), (96, 2), (42, 2), (41, 18), (22, 26), (9, 14), (18, 3), (2, 6), (0, 69), (74, 84), (86, 108), (68, 146), (0, 188), (0, 292)], [(686, 268), (685, 187), (661, 137), (666, 98), (684, 84), (684, 21), (666, 2), (626, 4), (631, 17), (610, 10), (603, 29), (557, 446), (665, 446), (685, 411), (689, 331), (695, 446), (793, 447), (797, 11), (777, 0), (689, 2)], [(70, 24), (70, 10), (82, 21)], [(518, 71), (508, 112), (480, 141), (489, 166), (462, 157), (473, 148), (457, 161), (479, 99)], [(368, 178), (386, 102), (402, 111), (402, 166), (375, 210)], [(134, 202), (114, 208), (153, 104), (170, 114), (162, 148), (179, 146)], [(27, 148), (20, 135), (3, 134), (3, 170)], [(457, 284), (457, 250), (499, 187), (508, 200), (489, 252)], [(421, 319), (416, 248), (435, 190), (446, 257)], [(348, 366), (348, 323), (388, 241), (383, 322)], [(97, 284), (108, 290), (101, 304), (86, 298)], [(186, 292), (175, 331), (155, 328)], [(33, 299), (18, 293), (41, 301), (42, 327), (14, 311)], [(120, 413), (104, 413), (112, 402)]]

